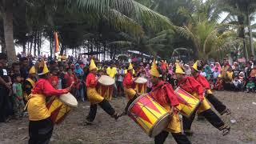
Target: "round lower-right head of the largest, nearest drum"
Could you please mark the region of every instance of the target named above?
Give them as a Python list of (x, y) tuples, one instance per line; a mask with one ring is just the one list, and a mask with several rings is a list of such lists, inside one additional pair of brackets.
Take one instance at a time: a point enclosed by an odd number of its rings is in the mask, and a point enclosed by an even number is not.
[(150, 130), (150, 138), (154, 138), (156, 135), (160, 134), (162, 130), (164, 130), (170, 122), (170, 114), (167, 113), (162, 116), (162, 118), (158, 119), (158, 122), (154, 124), (152, 129)]

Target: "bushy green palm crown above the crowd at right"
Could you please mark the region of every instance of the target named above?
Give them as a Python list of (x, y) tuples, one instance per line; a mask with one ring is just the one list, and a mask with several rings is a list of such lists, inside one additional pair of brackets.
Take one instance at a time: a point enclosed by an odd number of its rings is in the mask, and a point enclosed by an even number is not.
[(234, 38), (233, 30), (222, 30), (215, 22), (198, 22), (188, 26), (176, 27), (176, 30), (184, 38), (194, 44), (198, 58), (208, 59), (216, 52), (229, 49), (239, 43), (239, 39)]

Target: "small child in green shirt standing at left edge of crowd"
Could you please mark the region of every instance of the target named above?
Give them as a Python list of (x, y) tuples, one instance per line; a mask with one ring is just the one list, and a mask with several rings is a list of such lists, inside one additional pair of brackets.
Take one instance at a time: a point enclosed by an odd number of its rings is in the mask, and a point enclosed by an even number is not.
[(24, 102), (22, 96), (22, 77), (20, 74), (14, 74), (13, 84), (13, 101), (14, 101), (14, 117), (15, 119), (22, 118)]

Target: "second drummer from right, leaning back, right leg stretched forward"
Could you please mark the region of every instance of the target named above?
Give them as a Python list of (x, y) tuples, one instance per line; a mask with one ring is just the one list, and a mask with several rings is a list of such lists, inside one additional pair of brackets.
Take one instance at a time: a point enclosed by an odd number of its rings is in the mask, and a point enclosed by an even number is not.
[[(198, 114), (202, 114), (208, 122), (210, 122), (218, 130), (223, 130), (223, 135), (230, 133), (230, 126), (226, 125), (213, 110), (210, 109), (210, 105), (204, 98), (204, 89), (200, 83), (197, 82), (193, 77), (186, 77), (184, 70), (176, 64), (175, 74), (178, 79), (178, 86), (183, 90), (186, 90), (189, 94), (194, 95), (198, 98), (201, 103), (198, 106)], [(183, 129), (187, 135), (192, 135), (190, 131), (192, 122), (194, 121), (195, 113), (190, 118), (183, 117)]]

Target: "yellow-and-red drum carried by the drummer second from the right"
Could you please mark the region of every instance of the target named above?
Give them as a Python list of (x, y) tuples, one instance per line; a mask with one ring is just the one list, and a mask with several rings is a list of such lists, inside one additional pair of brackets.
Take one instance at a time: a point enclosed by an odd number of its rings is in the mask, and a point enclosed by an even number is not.
[(175, 94), (177, 94), (179, 102), (179, 105), (177, 106), (178, 110), (180, 110), (183, 116), (190, 118), (191, 114), (194, 113), (194, 110), (198, 109), (200, 101), (180, 87), (175, 90)]

